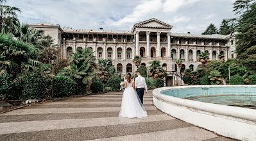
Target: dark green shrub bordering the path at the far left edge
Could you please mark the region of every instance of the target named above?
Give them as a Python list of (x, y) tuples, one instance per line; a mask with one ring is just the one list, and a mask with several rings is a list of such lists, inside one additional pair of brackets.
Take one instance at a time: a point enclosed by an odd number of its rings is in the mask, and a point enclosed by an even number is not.
[(0, 100), (16, 100), (21, 95), (22, 85), (7, 72), (0, 76)]

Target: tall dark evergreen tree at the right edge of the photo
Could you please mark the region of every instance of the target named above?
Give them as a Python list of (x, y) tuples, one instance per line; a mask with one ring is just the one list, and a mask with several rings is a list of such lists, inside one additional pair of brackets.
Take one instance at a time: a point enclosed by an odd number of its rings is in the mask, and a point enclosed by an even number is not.
[(256, 3), (248, 6), (248, 10), (241, 15), (236, 35), (237, 58), (241, 65), (250, 66), (256, 70)]

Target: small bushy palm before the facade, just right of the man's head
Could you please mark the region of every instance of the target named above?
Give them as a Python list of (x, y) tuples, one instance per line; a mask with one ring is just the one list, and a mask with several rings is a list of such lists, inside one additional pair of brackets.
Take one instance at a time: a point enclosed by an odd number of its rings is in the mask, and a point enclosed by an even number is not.
[(157, 78), (164, 79), (167, 76), (166, 70), (164, 70), (160, 65), (160, 61), (153, 60), (153, 61), (149, 62), (149, 64), (151, 64), (149, 66), (149, 69), (148, 69), (148, 76), (150, 78), (152, 78), (152, 79), (157, 79)]

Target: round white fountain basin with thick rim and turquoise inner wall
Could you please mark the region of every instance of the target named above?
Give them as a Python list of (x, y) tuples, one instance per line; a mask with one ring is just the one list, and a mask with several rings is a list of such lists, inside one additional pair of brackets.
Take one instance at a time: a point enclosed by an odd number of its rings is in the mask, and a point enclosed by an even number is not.
[(153, 103), (177, 119), (209, 129), (225, 137), (256, 140), (256, 110), (224, 104), (205, 103), (187, 97), (253, 97), (256, 85), (210, 85), (164, 87), (153, 90)]

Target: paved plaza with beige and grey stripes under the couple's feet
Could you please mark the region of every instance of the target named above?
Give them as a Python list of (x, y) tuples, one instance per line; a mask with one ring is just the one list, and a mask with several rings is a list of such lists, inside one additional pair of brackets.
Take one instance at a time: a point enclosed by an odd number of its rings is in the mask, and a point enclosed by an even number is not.
[(144, 95), (148, 117), (118, 117), (122, 92), (37, 103), (0, 115), (0, 140), (230, 140), (160, 112)]

